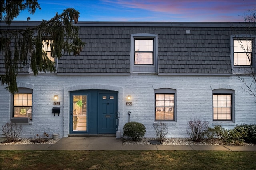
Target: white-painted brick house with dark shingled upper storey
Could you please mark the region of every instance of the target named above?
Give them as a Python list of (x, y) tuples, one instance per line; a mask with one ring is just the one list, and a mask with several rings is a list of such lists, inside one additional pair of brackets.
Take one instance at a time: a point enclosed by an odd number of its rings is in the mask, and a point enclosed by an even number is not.
[[(1, 30), (39, 23), (14, 21), (1, 24)], [(188, 137), (186, 128), (193, 119), (228, 129), (256, 123), (256, 99), (244, 84), (252, 81), (246, 68), (255, 71), (256, 34), (248, 34), (246, 23), (77, 26), (86, 42), (80, 55), (56, 59), (55, 73), (34, 76), (28, 67), (22, 69), (14, 95), (0, 87), (1, 128), (12, 121), (22, 124), (22, 138), (44, 132), (67, 137), (115, 134), (136, 121), (145, 125), (146, 137), (155, 137), (154, 123), (164, 122), (166, 137), (182, 138)], [(255, 24), (250, 27), (255, 32)], [(250, 44), (246, 52), (243, 44)]]

